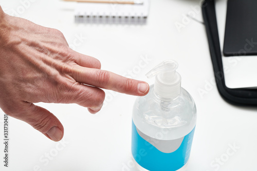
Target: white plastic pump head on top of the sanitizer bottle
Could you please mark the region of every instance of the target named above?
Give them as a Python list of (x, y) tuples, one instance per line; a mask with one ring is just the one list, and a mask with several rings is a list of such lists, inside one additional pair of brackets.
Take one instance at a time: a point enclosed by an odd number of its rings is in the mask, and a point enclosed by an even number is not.
[(160, 99), (174, 99), (178, 97), (181, 87), (181, 76), (176, 72), (177, 62), (163, 61), (151, 71), (146, 77), (155, 77), (154, 92)]

